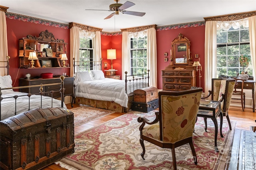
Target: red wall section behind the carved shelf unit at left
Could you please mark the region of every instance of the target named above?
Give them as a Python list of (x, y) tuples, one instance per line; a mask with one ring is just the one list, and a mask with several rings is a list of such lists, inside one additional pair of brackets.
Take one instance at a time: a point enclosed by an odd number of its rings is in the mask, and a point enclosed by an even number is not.
[(7, 24), (7, 39), (8, 39), (8, 55), (10, 58), (10, 75), (12, 76), (12, 85), (19, 86), (19, 78), (25, 77), (26, 73), (30, 73), (32, 77), (40, 76), (44, 72), (52, 72), (53, 75), (62, 75), (62, 72), (66, 72), (67, 75), (70, 75), (70, 68), (33, 68), (19, 69), (19, 39), (26, 37), (27, 35), (33, 35), (39, 37), (41, 31), (46, 29), (53, 33), (55, 39), (64, 39), (67, 45), (67, 57), (70, 63), (70, 29), (63, 29), (53, 26), (42, 25), (38, 23), (32, 23), (27, 21), (20, 20), (11, 20), (6, 18)]

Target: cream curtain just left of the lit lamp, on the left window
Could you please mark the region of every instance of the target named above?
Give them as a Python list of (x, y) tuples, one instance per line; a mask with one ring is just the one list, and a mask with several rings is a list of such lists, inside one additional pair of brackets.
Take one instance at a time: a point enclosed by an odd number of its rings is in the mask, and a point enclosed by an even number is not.
[[(100, 31), (95, 32), (95, 37), (92, 39), (93, 61), (101, 61), (101, 35)], [(96, 63), (100, 64), (100, 63)], [(94, 69), (98, 69), (94, 68)]]

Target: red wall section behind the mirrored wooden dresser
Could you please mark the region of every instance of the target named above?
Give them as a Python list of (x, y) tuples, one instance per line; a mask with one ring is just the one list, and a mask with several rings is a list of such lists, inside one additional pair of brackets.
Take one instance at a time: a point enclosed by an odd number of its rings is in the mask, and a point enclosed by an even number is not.
[[(169, 29), (156, 31), (157, 44), (157, 88), (162, 89), (162, 72), (166, 66), (170, 64), (170, 49), (172, 48), (172, 41), (182, 33), (184, 37), (190, 40), (190, 54), (192, 61), (198, 61), (195, 54), (200, 57), (200, 64), (202, 65), (201, 87), (204, 87), (204, 29), (205, 26), (187, 27), (179, 29)], [(164, 62), (164, 53), (168, 53), (168, 61)], [(198, 72), (197, 72), (198, 74)], [(199, 76), (196, 76), (196, 85), (199, 87)]]

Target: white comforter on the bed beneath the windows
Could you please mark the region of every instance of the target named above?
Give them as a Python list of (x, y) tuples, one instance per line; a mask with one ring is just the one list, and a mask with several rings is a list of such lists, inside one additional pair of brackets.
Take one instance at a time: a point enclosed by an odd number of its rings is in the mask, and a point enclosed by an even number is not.
[[(129, 95), (136, 89), (142, 88), (142, 80), (140, 82), (141, 86), (136, 86), (136, 80), (127, 82), (127, 94)], [(139, 84), (139, 80), (138, 80)], [(147, 82), (144, 80), (143, 87), (147, 87)], [(125, 91), (125, 80), (116, 80), (112, 78), (104, 78), (100, 80), (83, 81), (79, 82), (75, 88), (75, 96), (116, 102), (123, 107), (128, 107), (128, 95)]]

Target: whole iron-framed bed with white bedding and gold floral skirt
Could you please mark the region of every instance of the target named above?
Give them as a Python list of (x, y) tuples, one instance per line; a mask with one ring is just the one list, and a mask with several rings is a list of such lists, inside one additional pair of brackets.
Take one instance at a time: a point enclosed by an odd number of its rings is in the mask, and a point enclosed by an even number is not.
[[(74, 63), (76, 62), (74, 61)], [(131, 108), (133, 91), (148, 87), (149, 85), (149, 70), (146, 74), (136, 75), (127, 75), (127, 72), (125, 72), (125, 80), (116, 80), (105, 78), (100, 62), (98, 62), (100, 63), (98, 67), (95, 64), (97, 62), (89, 63), (86, 64), (91, 65), (88, 68), (94, 69), (86, 69), (74, 73), (74, 96), (76, 104), (127, 112)], [(76, 70), (76, 66), (85, 68), (81, 63), (79, 65), (74, 64), (74, 70)], [(95, 68), (99, 69), (96, 70)]]

